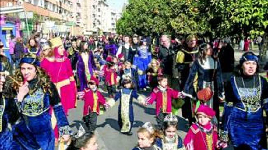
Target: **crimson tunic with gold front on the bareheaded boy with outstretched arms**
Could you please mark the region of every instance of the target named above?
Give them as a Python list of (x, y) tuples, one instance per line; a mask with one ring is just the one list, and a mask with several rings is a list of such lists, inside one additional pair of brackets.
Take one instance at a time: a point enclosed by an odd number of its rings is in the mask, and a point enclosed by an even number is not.
[(167, 87), (166, 92), (162, 92), (158, 87), (156, 87), (153, 89), (151, 95), (146, 98), (146, 102), (153, 104), (153, 102), (156, 101), (156, 115), (159, 114), (161, 109), (163, 113), (171, 113), (171, 99), (179, 98), (179, 96), (180, 92), (172, 88)]

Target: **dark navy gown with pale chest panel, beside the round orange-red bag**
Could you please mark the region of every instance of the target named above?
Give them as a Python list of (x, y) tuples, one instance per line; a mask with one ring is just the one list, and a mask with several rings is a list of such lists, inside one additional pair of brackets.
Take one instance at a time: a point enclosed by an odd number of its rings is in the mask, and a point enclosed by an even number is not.
[[(197, 89), (194, 87), (197, 75)], [(224, 99), (224, 86), (219, 61), (206, 57), (203, 63), (196, 59), (190, 69), (189, 76), (184, 85), (183, 92), (191, 98), (196, 97), (196, 91), (210, 87), (213, 92), (211, 99), (206, 104), (213, 108), (219, 119), (219, 97)]]

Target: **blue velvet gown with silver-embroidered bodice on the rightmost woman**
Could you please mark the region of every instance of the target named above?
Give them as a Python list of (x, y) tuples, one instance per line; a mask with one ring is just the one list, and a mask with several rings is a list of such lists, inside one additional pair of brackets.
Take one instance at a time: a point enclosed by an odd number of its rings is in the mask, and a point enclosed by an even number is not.
[[(252, 150), (262, 148), (265, 134), (263, 110), (268, 111), (268, 84), (259, 75), (232, 77), (226, 86), (223, 129), (225, 138), (235, 148), (247, 145)], [(222, 136), (224, 137), (224, 136)]]

